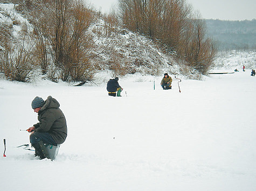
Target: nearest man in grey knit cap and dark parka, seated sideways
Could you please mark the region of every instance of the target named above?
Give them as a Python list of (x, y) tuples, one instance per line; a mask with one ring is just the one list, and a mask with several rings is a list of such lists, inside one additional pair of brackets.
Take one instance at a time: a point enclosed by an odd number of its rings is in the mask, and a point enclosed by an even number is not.
[(59, 102), (49, 96), (45, 101), (36, 97), (31, 102), (32, 109), (38, 113), (38, 123), (27, 129), (30, 143), (40, 159), (49, 158), (45, 144), (57, 146), (67, 137), (67, 124)]

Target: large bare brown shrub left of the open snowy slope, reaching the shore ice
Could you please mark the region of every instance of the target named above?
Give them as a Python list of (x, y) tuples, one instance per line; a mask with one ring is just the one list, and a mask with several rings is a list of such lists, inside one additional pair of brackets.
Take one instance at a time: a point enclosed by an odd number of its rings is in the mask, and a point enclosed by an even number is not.
[(93, 12), (79, 0), (37, 0), (31, 7), (34, 55), (43, 73), (54, 64), (63, 81), (92, 80), (91, 61), (96, 55), (94, 39), (87, 31), (94, 20)]

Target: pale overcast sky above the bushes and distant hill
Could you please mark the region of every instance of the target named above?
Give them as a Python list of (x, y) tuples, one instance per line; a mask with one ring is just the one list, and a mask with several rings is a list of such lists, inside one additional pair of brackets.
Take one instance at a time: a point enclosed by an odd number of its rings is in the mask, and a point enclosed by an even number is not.
[[(87, 0), (96, 9), (107, 12), (117, 0)], [(205, 19), (252, 20), (256, 19), (256, 0), (186, 0)]]

